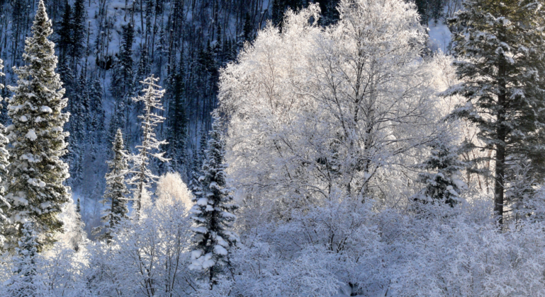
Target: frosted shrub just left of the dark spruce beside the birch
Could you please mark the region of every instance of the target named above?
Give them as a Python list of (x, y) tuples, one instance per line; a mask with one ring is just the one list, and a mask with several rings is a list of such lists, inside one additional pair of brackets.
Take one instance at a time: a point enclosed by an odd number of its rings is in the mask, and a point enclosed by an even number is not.
[(186, 206), (181, 200), (144, 206), (139, 220), (116, 227), (110, 244), (90, 248), (89, 279), (97, 296), (186, 296), (196, 290), (187, 269), (191, 220)]

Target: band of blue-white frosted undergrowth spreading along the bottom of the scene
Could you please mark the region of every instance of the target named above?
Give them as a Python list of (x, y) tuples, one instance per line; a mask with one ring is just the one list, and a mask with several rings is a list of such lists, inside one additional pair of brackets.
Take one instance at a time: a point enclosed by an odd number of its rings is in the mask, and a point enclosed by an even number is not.
[(111, 245), (74, 252), (57, 243), (36, 269), (52, 296), (541, 296), (544, 223), (500, 232), (490, 218), (473, 217), (487, 203), (414, 214), (343, 199), (293, 211), (283, 226), (245, 233), (233, 278), (202, 291), (186, 268), (186, 208), (161, 202), (145, 219), (125, 221)]

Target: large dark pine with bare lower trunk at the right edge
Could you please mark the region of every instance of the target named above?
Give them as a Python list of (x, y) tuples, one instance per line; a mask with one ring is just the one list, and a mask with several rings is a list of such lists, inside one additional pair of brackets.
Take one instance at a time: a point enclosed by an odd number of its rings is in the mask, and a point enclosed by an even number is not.
[(495, 151), (494, 211), (502, 223), (514, 161), (529, 160), (534, 174), (545, 173), (545, 6), (528, 0), (468, 0), (464, 6), (449, 20), (459, 28), (453, 50), (462, 83), (444, 95), (466, 98), (453, 115), (476, 124), (483, 148)]

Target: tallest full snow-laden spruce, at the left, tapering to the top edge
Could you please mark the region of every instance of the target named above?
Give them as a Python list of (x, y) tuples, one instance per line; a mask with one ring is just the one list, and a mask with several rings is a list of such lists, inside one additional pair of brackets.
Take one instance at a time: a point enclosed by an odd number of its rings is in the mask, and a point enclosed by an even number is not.
[(52, 243), (52, 234), (62, 232), (57, 218), (62, 204), (68, 202), (68, 189), (62, 183), (68, 177), (68, 165), (61, 160), (66, 151), (67, 136), (62, 127), (68, 114), (62, 112), (67, 99), (55, 74), (57, 57), (54, 44), (47, 37), (52, 34), (43, 0), (38, 4), (32, 36), (26, 40), (23, 61), (25, 66), (15, 69), (18, 86), (10, 87), (9, 100), (9, 184), (6, 199), (11, 204), (11, 222), (15, 238), (22, 235), (25, 221), (35, 222), (35, 231), (43, 245)]

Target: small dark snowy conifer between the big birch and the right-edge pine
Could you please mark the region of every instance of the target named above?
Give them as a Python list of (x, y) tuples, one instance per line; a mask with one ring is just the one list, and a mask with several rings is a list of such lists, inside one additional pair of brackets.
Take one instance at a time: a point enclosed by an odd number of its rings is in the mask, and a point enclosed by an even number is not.
[(450, 206), (457, 204), (460, 194), (466, 190), (466, 184), (460, 179), (466, 164), (459, 160), (459, 154), (439, 137), (430, 144), (429, 158), (424, 162), (426, 173), (419, 173), (418, 182), (426, 185), (413, 199), (422, 203), (444, 202)]

